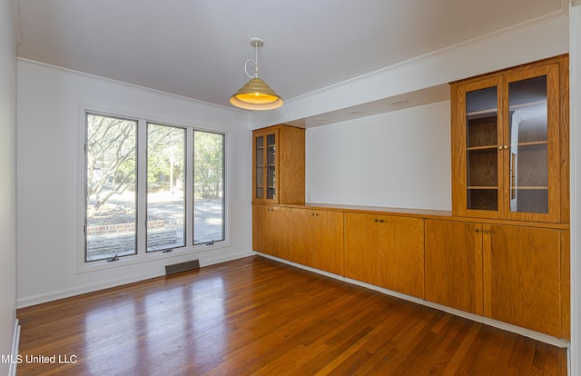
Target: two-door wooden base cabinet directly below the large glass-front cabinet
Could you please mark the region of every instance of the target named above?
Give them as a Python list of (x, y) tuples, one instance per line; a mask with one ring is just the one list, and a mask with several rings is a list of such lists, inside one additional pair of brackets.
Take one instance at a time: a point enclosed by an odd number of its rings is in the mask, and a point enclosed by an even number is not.
[(426, 299), (568, 338), (567, 233), (426, 220)]

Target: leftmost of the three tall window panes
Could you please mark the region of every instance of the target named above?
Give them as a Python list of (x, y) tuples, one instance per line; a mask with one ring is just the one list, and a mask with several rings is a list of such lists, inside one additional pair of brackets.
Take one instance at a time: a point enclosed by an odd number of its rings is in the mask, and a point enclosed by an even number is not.
[(86, 261), (135, 254), (137, 122), (86, 119)]

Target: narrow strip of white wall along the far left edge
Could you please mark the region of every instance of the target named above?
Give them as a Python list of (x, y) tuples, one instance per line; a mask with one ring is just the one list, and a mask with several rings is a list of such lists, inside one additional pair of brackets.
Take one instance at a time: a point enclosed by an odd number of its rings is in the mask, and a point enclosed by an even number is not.
[[(16, 46), (12, 0), (0, 1), (0, 354), (12, 351), (16, 319)], [(0, 362), (0, 374), (10, 364)]]

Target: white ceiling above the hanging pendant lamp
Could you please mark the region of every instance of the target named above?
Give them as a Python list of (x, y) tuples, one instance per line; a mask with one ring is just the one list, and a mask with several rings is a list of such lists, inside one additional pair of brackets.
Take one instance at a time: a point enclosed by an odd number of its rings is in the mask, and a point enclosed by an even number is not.
[(18, 56), (231, 107), (260, 36), (285, 101), (566, 13), (566, 0), (17, 0)]

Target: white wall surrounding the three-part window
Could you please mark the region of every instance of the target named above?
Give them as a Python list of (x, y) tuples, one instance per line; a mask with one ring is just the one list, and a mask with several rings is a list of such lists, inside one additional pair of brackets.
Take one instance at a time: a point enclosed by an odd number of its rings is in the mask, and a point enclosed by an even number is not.
[[(162, 275), (165, 264), (202, 266), (251, 254), (251, 130), (248, 115), (87, 74), (19, 60), (17, 302), (27, 306)], [(231, 133), (231, 246), (188, 256), (77, 272), (79, 105)], [(228, 163), (228, 162), (227, 162)], [(173, 252), (173, 254), (178, 252)]]

